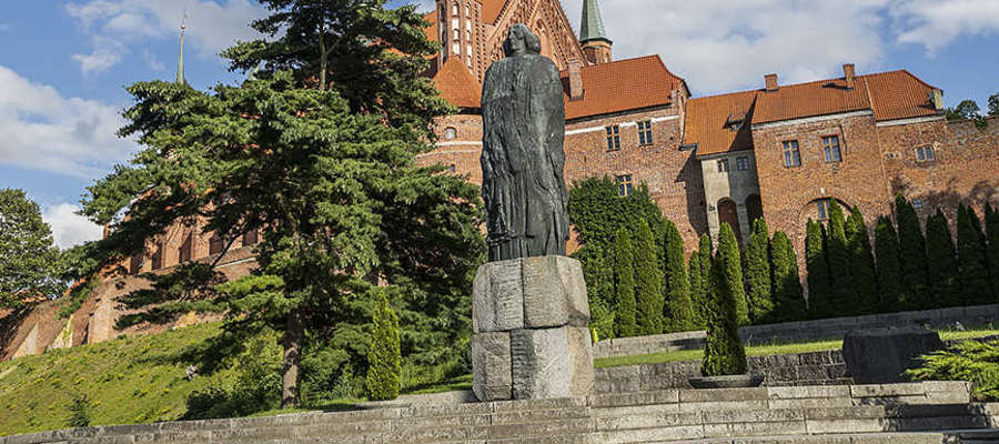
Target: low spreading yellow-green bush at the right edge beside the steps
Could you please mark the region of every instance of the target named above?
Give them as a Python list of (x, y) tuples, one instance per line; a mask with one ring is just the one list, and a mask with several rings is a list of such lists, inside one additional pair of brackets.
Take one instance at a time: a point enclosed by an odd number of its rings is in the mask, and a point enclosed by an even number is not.
[(970, 381), (976, 401), (999, 401), (999, 341), (965, 341), (921, 360), (921, 367), (906, 372), (912, 380)]

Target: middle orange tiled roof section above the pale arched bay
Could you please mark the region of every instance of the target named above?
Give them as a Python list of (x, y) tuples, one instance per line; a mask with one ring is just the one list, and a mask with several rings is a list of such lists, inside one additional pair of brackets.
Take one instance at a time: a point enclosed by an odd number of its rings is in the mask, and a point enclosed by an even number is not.
[(687, 101), (684, 144), (697, 144), (697, 155), (753, 149), (749, 122), (758, 91), (734, 92)]

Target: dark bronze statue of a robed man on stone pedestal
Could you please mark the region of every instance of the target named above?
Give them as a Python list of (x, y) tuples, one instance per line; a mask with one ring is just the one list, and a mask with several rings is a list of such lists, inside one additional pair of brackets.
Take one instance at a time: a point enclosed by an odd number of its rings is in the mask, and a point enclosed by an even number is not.
[(482, 198), (490, 261), (565, 255), (565, 104), (558, 69), (514, 24), (482, 89)]

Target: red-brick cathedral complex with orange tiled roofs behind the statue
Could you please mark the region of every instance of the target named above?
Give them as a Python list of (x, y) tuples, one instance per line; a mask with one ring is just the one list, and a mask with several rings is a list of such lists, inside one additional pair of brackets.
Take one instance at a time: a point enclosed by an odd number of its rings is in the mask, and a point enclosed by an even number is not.
[[(481, 183), (481, 82), (503, 57), (507, 29), (525, 23), (562, 70), (567, 182), (608, 175), (622, 194), (646, 184), (688, 252), (722, 222), (747, 239), (763, 216), (803, 261), (805, 222), (826, 219), (834, 199), (859, 205), (868, 223), (891, 213), (897, 192), (920, 215), (940, 208), (951, 221), (960, 202), (999, 205), (999, 118), (986, 128), (945, 120), (942, 91), (908, 71), (857, 74), (845, 64), (836, 79), (780, 84), (767, 74), (756, 90), (694, 98), (658, 56), (614, 60), (596, 0), (565, 1), (584, 2), (578, 37), (558, 0), (436, 1), (426, 32), (443, 49), (428, 75), (460, 112), (436, 122), (437, 149), (420, 162)], [(221, 239), (176, 224), (150, 241), (147, 258), (123, 265), (138, 274), (219, 259), (216, 270), (235, 279), (254, 266), (256, 242), (248, 233), (220, 259)], [(107, 279), (68, 321), (56, 319), (52, 301), (16, 326), (0, 315), (0, 331), (11, 329), (0, 360), (161, 330), (113, 327), (123, 314), (115, 297), (144, 286), (131, 275)], [(192, 313), (174, 325), (202, 320)]]

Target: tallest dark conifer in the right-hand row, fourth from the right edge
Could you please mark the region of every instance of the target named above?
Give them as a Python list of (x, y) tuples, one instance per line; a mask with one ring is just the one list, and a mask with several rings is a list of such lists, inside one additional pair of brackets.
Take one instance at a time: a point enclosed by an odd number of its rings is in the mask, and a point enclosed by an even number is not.
[(898, 220), (898, 256), (901, 279), (905, 283), (905, 305), (900, 310), (919, 310), (931, 304), (927, 280), (926, 240), (919, 229), (916, 208), (899, 193), (895, 198)]

